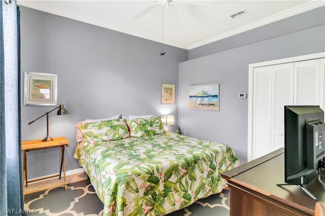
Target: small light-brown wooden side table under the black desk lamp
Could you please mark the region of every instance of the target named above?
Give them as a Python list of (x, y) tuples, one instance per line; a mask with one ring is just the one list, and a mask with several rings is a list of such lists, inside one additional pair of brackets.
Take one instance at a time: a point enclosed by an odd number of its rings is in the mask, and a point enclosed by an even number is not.
[[(47, 177), (42, 177), (42, 178), (37, 178), (28, 181), (27, 179), (27, 160), (26, 160), (26, 153), (30, 151), (36, 151), (36, 150), (44, 150), (44, 149), (51, 149), (51, 148), (61, 148), (61, 165), (60, 165), (60, 171), (58, 174), (47, 176)], [(66, 178), (66, 166), (64, 165), (64, 148), (69, 147), (69, 141), (65, 137), (55, 137), (51, 141), (42, 141), (42, 139), (37, 139), (37, 140), (29, 140), (29, 141), (22, 141), (21, 142), (21, 150), (23, 151), (23, 182), (25, 186), (27, 187), (28, 183), (30, 182), (37, 182), (43, 179), (47, 178), (52, 178), (52, 177), (59, 177), (61, 179), (61, 172), (63, 168), (63, 177), (64, 177), (64, 182), (51, 185), (48, 187), (44, 188), (39, 188), (38, 190), (33, 190), (29, 192), (24, 191), (24, 195), (30, 194), (30, 193), (35, 193), (37, 191), (43, 191), (49, 188), (55, 188), (61, 185), (64, 185), (64, 188), (66, 191), (68, 190), (67, 187), (67, 178)]]

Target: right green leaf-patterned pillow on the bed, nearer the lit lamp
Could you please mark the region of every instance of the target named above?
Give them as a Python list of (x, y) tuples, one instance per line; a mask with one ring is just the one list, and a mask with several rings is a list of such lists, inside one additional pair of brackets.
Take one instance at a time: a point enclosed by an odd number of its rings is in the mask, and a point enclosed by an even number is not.
[(132, 137), (152, 136), (165, 133), (160, 116), (154, 116), (150, 119), (130, 119), (126, 121), (126, 124), (130, 129), (130, 136)]

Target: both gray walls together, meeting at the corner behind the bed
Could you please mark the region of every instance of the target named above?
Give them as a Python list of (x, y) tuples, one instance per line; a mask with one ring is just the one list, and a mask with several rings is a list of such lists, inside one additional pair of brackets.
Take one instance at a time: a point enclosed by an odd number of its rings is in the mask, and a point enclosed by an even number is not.
[[(79, 168), (74, 125), (118, 114), (175, 115), (173, 131), (180, 125), (185, 135), (226, 143), (246, 162), (248, 99), (238, 93), (248, 92), (248, 64), (325, 51), (324, 7), (190, 51), (164, 45), (165, 56), (156, 42), (20, 10), (21, 77), (25, 70), (57, 74), (58, 103), (69, 112), (49, 119), (50, 135), (70, 141), (67, 170)], [(161, 83), (176, 84), (175, 105), (160, 104)], [(220, 84), (220, 111), (189, 111), (188, 87), (211, 83)], [(24, 106), (23, 80), (21, 94), (22, 140), (44, 138), (45, 117), (27, 123), (55, 106)], [(28, 178), (57, 173), (59, 151), (29, 152)]]

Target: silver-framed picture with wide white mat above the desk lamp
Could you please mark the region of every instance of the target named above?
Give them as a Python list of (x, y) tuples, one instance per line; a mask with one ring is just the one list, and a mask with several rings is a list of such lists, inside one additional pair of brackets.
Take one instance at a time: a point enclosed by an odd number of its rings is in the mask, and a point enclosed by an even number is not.
[(24, 105), (56, 105), (56, 74), (25, 71), (24, 75)]

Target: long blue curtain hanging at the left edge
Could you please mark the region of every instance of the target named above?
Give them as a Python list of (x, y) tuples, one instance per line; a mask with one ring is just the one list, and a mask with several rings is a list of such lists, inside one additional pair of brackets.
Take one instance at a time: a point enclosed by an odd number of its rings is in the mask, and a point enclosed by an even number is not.
[(0, 214), (25, 215), (20, 137), (20, 26), (16, 0), (0, 4)]

